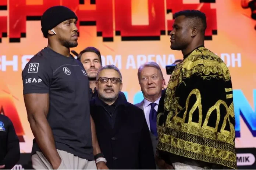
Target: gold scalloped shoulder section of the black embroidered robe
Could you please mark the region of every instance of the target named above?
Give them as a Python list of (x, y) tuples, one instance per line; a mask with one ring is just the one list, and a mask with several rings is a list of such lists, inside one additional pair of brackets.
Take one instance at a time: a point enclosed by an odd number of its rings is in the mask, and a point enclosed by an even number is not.
[(181, 64), (182, 76), (198, 75), (204, 78), (215, 77), (224, 80), (230, 79), (230, 73), (223, 60), (209, 49), (196, 49)]

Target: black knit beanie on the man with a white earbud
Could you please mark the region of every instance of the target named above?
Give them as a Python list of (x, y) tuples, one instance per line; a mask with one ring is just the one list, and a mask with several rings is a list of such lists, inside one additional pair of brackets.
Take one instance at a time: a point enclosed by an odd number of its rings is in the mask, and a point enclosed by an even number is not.
[(43, 36), (47, 38), (48, 30), (53, 29), (58, 24), (67, 19), (78, 19), (77, 15), (69, 8), (64, 6), (54, 6), (46, 10), (41, 18), (41, 30)]

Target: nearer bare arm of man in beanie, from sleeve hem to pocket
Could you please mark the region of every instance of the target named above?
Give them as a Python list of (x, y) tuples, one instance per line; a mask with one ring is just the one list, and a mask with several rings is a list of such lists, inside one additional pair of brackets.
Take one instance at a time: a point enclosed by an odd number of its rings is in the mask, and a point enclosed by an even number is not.
[(61, 158), (56, 150), (53, 133), (46, 119), (49, 110), (49, 94), (26, 94), (24, 101), (36, 143), (53, 169), (57, 169), (61, 163)]

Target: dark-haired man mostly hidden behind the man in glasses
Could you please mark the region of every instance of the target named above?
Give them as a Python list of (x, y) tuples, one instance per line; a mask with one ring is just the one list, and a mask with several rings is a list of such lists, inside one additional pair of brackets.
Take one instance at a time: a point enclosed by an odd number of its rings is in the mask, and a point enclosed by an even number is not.
[[(102, 67), (102, 58), (100, 55), (100, 51), (95, 47), (87, 47), (79, 53), (77, 59), (82, 62), (83, 67), (85, 68), (85, 71), (88, 75), (90, 84), (90, 96), (91, 99), (93, 99), (97, 96), (95, 84), (96, 75), (99, 69)], [(127, 100), (123, 92), (120, 92), (120, 95), (125, 100)]]

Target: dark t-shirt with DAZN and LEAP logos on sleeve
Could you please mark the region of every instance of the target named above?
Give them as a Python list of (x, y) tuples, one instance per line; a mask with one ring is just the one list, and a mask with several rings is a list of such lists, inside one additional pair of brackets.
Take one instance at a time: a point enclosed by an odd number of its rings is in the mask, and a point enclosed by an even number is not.
[[(23, 93), (49, 93), (47, 121), (56, 148), (94, 160), (90, 128), (89, 80), (83, 65), (46, 47), (22, 71)], [(32, 154), (40, 151), (35, 139)]]

